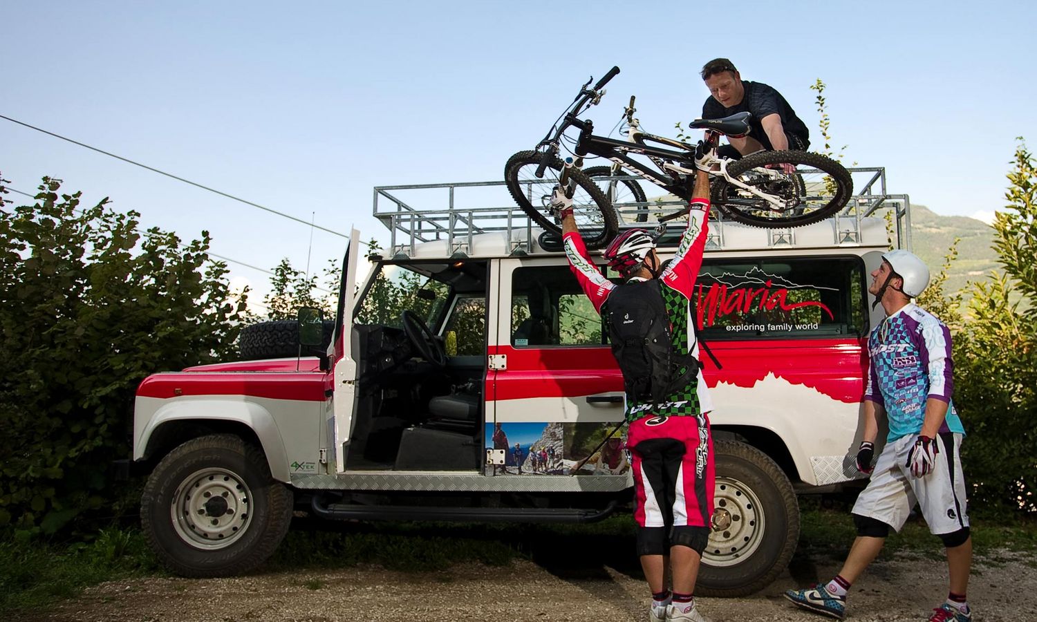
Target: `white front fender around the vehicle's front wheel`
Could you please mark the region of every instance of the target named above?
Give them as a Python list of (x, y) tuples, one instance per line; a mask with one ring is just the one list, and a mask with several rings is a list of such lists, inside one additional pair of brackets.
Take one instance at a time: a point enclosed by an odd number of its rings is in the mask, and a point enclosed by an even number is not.
[(280, 431), (271, 413), (241, 396), (181, 397), (160, 399), (137, 397), (134, 429), (140, 430), (134, 440), (133, 459), (141, 460), (147, 454), (148, 443), (155, 432), (176, 421), (228, 421), (245, 425), (259, 439), (267, 463), (274, 479), (288, 483), (288, 455), (281, 441)]

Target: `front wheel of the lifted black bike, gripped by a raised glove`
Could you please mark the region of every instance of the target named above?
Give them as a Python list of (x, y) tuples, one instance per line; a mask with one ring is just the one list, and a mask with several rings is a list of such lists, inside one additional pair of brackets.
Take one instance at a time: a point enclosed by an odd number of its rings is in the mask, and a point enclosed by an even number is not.
[[(543, 153), (518, 151), (504, 165), (504, 181), (508, 192), (523, 211), (544, 231), (562, 234), (561, 225), (551, 215), (551, 195), (558, 186), (562, 161), (550, 157), (543, 177), (536, 176)], [(572, 195), (572, 216), (587, 248), (598, 248), (612, 239), (619, 228), (616, 210), (609, 203), (601, 189), (580, 169), (569, 170), (569, 179), (576, 183)]]

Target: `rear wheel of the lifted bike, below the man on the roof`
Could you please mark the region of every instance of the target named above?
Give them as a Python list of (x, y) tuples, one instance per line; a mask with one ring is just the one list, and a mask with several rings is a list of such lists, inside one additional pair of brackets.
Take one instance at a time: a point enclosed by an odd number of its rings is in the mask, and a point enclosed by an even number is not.
[[(770, 168), (789, 164), (794, 173)], [(748, 188), (717, 178), (712, 203), (731, 220), (756, 227), (816, 223), (842, 209), (853, 194), (849, 171), (820, 153), (758, 151), (732, 162), (727, 172)]]

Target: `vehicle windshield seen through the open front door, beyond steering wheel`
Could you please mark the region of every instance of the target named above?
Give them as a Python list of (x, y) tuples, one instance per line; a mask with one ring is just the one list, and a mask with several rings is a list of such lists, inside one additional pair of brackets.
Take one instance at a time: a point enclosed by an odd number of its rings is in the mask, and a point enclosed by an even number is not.
[(357, 322), (402, 328), (400, 315), (410, 310), (429, 327), (443, 310), (450, 288), (405, 265), (382, 264), (357, 312)]

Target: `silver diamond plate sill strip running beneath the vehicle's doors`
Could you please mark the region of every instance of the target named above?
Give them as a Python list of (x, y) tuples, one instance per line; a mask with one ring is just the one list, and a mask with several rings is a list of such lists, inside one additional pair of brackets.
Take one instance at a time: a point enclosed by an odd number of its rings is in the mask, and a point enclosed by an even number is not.
[(292, 475), (305, 490), (423, 490), (431, 492), (615, 492), (634, 486), (626, 475), (549, 476), (478, 473), (346, 473)]

